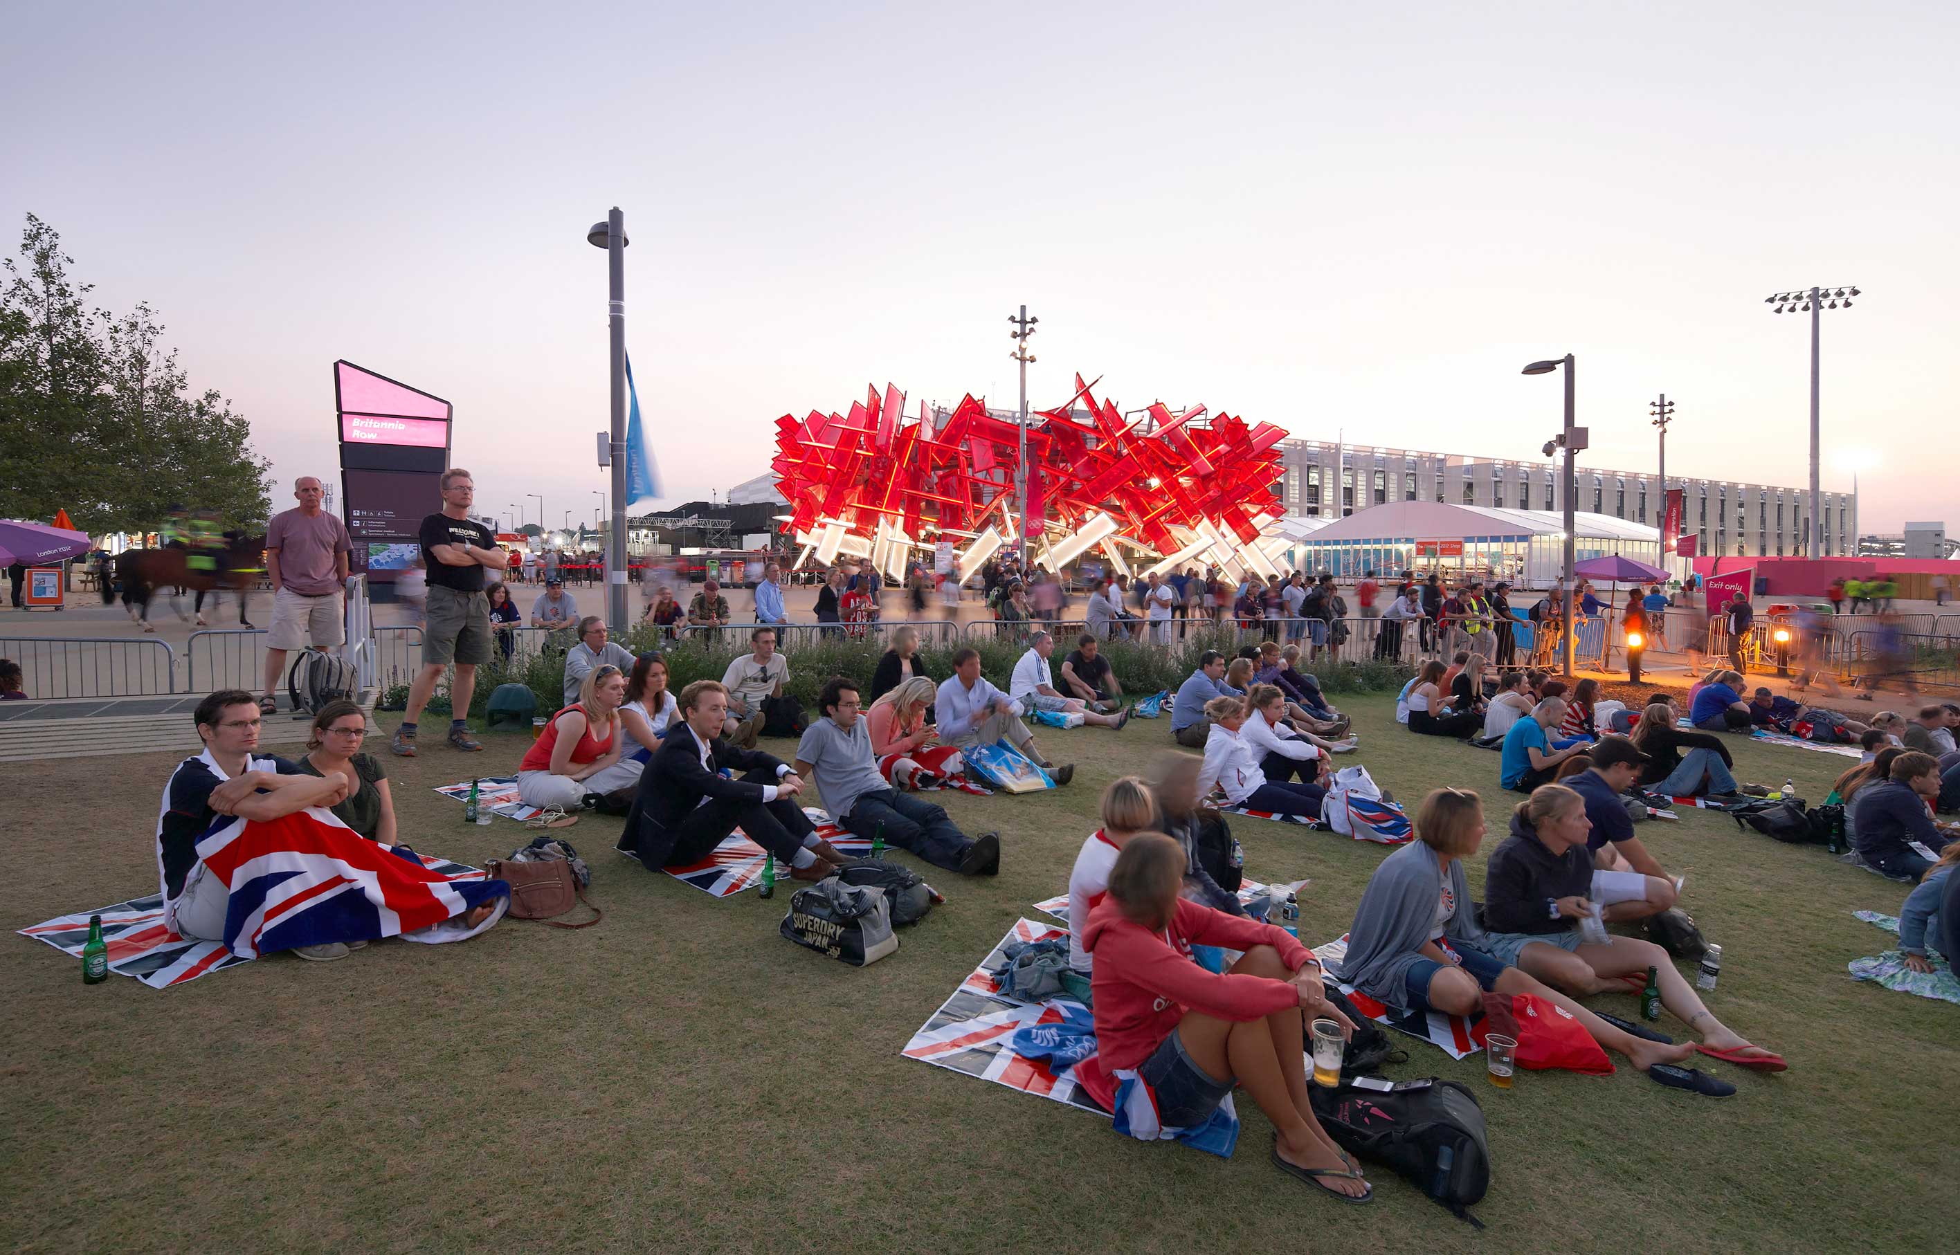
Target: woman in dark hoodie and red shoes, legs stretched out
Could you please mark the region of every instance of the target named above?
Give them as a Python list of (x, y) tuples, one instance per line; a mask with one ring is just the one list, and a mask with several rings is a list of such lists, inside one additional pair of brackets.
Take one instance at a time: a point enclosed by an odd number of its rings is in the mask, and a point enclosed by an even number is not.
[(1605, 944), (1584, 940), (1580, 920), (1593, 912), (1590, 834), (1586, 799), (1564, 785), (1541, 785), (1511, 811), (1511, 836), (1492, 852), (1484, 871), (1490, 955), (1574, 997), (1625, 993), (1627, 977), (1652, 967), (1660, 975), (1660, 1004), (1701, 1034), (1701, 1053), (1784, 1071), (1774, 1051), (1750, 1046), (1701, 1004), (1660, 946), (1623, 936)]

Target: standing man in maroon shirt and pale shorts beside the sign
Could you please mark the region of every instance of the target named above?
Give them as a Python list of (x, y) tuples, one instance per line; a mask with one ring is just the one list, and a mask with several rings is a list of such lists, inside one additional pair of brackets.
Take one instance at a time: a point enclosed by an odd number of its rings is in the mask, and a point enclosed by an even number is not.
[[(325, 491), (314, 476), (292, 482), (298, 507), (272, 515), (265, 529), (265, 574), (272, 580), (272, 630), (265, 638), (265, 695), (259, 713), (272, 715), (286, 650), (347, 644), (341, 589), (347, 587), (347, 527), (319, 507)], [(243, 593), (241, 593), (243, 595)]]

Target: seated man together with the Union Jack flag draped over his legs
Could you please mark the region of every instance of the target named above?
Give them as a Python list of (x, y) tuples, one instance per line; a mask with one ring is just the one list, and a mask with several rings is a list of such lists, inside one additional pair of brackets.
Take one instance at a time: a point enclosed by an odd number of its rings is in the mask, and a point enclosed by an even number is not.
[(408, 846), (380, 846), (335, 816), (329, 807), (353, 791), (345, 773), (253, 754), (251, 693), (212, 693), (194, 720), (204, 752), (171, 773), (157, 813), (171, 932), (223, 942), (237, 957), (339, 959), (388, 936), (465, 940), (502, 918), (504, 881), (433, 871)]

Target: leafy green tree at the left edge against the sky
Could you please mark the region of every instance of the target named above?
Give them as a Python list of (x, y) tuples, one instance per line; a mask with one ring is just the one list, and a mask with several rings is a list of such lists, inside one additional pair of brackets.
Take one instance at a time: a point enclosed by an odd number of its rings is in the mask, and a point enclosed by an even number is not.
[(261, 529), (269, 462), (221, 394), (190, 392), (157, 311), (90, 309), (92, 284), (33, 213), (0, 264), (0, 517), (67, 509), (100, 535), (153, 531), (180, 505)]

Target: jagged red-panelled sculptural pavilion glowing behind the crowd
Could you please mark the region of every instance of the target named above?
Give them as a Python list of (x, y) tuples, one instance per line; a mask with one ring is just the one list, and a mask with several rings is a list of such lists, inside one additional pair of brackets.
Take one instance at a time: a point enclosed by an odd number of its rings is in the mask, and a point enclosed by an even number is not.
[[(1074, 417), (1078, 403), (1088, 423)], [(923, 401), (913, 421), (904, 407), (904, 394), (886, 386), (884, 397), (870, 388), (849, 415), (776, 419), (770, 468), (798, 538), (817, 546), (827, 535), (833, 550), (874, 556), (878, 544), (909, 552), (925, 536), (960, 542), (990, 527), (1015, 535), (1017, 427), (972, 395), (937, 431)], [(1272, 486), (1286, 433), (1227, 413), (1205, 423), (1203, 415), (1203, 405), (1172, 415), (1156, 403), (1125, 423), (1113, 401), (1098, 401), (1076, 376), (1064, 405), (1031, 415), (1029, 531), (1060, 538), (1100, 513), (1115, 523), (1115, 542), (1147, 554), (1190, 546), (1203, 525), (1252, 542), (1260, 515), (1284, 513)]]

